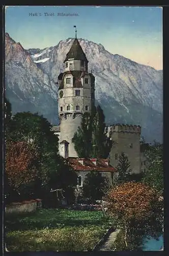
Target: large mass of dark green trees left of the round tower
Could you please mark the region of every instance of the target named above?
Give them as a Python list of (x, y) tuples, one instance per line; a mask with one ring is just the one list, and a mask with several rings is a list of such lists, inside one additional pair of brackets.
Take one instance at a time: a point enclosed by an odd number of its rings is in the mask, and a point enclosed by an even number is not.
[[(22, 192), (27, 190), (27, 194), (48, 201), (50, 189), (62, 186), (65, 195), (70, 195), (77, 178), (65, 160), (59, 156), (58, 137), (51, 131), (50, 123), (43, 116), (30, 112), (17, 113), (12, 117), (7, 133), (7, 143), (29, 143), (34, 149), (36, 179), (34, 183), (26, 186), (23, 183)], [(73, 197), (73, 192), (71, 195)]]

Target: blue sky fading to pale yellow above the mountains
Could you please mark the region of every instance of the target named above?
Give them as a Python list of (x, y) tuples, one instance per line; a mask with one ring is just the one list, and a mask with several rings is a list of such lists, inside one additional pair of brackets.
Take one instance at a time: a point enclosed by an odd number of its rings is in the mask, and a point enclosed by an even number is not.
[(5, 32), (24, 49), (44, 49), (74, 37), (74, 25), (77, 38), (157, 70), (163, 68), (161, 7), (6, 6)]

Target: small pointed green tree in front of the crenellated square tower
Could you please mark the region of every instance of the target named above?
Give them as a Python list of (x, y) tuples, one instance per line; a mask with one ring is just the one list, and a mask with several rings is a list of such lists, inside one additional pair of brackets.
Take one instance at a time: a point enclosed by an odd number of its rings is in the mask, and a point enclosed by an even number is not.
[(131, 169), (130, 169), (130, 162), (128, 157), (122, 152), (121, 156), (119, 157), (118, 164), (116, 166), (118, 170), (118, 178), (117, 183), (123, 183), (129, 180)]

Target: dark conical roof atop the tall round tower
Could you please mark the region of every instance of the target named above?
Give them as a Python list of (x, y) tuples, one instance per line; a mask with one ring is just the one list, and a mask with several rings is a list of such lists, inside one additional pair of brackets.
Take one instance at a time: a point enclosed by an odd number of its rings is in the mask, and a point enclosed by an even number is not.
[(65, 61), (67, 61), (68, 59), (71, 59), (71, 58), (74, 58), (76, 60), (84, 60), (86, 62), (89, 62), (85, 53), (82, 50), (77, 38), (74, 39), (73, 44), (72, 44), (69, 52), (66, 54)]

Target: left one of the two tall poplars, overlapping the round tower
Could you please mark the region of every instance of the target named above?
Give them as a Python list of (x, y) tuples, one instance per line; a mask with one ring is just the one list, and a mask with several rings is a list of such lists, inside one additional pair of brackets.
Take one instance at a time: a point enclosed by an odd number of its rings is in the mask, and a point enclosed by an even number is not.
[(90, 157), (92, 151), (92, 122), (90, 114), (83, 114), (81, 126), (78, 126), (73, 140), (78, 157)]

